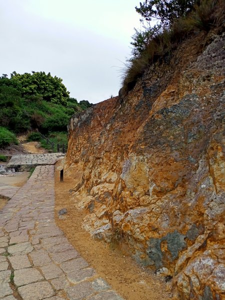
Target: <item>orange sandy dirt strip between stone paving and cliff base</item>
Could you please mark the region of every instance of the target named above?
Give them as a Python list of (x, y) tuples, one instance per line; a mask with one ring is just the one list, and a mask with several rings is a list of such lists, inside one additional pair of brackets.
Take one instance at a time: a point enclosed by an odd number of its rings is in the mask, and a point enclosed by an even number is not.
[[(82, 228), (83, 212), (77, 210), (69, 189), (74, 187), (71, 178), (64, 176), (59, 182), (59, 171), (55, 167), (55, 220), (70, 243), (94, 267), (103, 279), (126, 300), (166, 300), (166, 284), (150, 270), (141, 267), (130, 257), (124, 256), (108, 244), (96, 241)], [(58, 218), (58, 210), (67, 209), (64, 218)]]

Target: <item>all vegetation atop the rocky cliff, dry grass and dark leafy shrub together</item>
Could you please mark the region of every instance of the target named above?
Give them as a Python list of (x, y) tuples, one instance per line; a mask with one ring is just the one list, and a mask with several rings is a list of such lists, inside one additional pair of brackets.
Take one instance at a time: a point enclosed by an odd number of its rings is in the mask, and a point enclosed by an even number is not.
[[(218, 5), (216, 5), (218, 2)], [(125, 63), (121, 94), (126, 95), (147, 66), (167, 55), (186, 37), (221, 24), (222, 0), (144, 0), (136, 11), (141, 15), (142, 30), (132, 36), (131, 57)], [(216, 9), (217, 7), (217, 9)], [(151, 26), (151, 22), (154, 25)]]

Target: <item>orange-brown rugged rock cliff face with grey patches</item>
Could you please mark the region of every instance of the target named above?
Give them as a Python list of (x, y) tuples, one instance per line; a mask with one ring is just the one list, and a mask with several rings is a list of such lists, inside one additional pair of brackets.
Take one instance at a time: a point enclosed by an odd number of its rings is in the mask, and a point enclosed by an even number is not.
[(179, 299), (225, 298), (224, 39), (186, 40), (69, 126), (84, 228), (172, 276)]

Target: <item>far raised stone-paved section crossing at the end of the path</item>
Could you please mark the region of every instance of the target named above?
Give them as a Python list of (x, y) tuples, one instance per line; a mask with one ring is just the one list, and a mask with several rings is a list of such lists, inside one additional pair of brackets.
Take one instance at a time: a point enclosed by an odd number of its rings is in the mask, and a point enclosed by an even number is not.
[(63, 153), (47, 153), (47, 154), (19, 154), (12, 155), (7, 167), (31, 166), (31, 165), (49, 165), (54, 164), (59, 158), (63, 157)]

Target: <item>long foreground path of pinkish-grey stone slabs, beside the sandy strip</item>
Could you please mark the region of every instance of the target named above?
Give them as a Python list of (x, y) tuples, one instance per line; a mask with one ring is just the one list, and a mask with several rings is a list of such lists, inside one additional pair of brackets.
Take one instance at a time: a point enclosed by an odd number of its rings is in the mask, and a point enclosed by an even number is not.
[(56, 226), (53, 165), (37, 166), (0, 211), (0, 299), (122, 300)]

